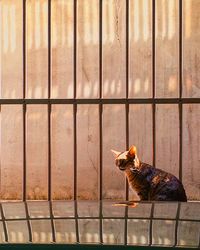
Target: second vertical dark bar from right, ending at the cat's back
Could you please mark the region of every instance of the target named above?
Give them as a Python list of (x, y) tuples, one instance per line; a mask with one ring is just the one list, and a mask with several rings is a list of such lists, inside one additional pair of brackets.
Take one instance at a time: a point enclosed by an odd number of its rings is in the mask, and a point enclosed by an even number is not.
[(155, 0), (152, 0), (152, 137), (153, 137), (153, 166), (156, 165), (156, 104), (154, 102), (155, 99), (155, 80), (156, 80), (156, 36), (155, 36), (155, 25), (156, 23), (156, 4)]

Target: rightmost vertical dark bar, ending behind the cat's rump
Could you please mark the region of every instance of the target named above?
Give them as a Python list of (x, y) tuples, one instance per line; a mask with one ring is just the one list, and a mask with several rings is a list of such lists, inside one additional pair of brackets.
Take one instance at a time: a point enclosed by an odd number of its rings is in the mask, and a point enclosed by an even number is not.
[[(182, 0), (179, 0), (179, 98), (182, 98)], [(183, 104), (179, 102), (179, 179), (182, 181), (182, 133), (183, 133)]]

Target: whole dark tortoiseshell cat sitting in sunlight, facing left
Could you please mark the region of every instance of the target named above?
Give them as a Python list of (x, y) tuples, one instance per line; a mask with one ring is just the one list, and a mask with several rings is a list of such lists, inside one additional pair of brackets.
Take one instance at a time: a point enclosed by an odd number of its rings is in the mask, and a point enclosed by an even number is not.
[(141, 200), (187, 201), (181, 181), (170, 173), (141, 162), (135, 146), (125, 152), (112, 152), (116, 166), (125, 172), (129, 185)]

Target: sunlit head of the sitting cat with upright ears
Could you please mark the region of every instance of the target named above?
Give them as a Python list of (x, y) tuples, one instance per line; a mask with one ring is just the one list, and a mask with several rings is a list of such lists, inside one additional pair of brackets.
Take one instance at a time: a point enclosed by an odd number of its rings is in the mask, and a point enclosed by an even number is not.
[(115, 156), (115, 164), (116, 166), (124, 171), (130, 166), (139, 166), (139, 159), (137, 157), (137, 149), (135, 146), (131, 146), (128, 151), (125, 152), (118, 152), (115, 150), (111, 150)]

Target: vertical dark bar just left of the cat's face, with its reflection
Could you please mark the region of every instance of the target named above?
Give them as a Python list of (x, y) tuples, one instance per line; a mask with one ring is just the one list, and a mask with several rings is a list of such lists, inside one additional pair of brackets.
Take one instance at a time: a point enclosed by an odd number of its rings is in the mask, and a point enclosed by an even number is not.
[[(102, 32), (103, 32), (103, 24), (102, 24), (102, 14), (103, 14), (103, 6), (102, 0), (99, 0), (99, 99), (102, 99)], [(99, 103), (99, 240), (100, 243), (103, 244), (103, 106)]]

